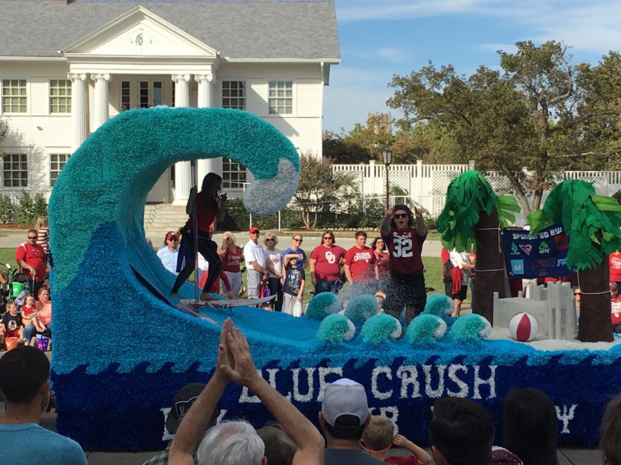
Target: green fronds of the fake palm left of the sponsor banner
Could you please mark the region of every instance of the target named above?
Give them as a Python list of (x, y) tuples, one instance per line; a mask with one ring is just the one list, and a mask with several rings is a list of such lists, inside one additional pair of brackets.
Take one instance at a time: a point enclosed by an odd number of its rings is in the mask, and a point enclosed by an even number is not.
[(515, 198), (497, 196), (480, 172), (472, 170), (457, 176), (446, 189), (446, 203), (437, 218), (442, 245), (449, 250), (470, 251), (480, 214), (489, 215), (494, 208), (502, 227), (515, 221), (512, 212), (520, 211)]

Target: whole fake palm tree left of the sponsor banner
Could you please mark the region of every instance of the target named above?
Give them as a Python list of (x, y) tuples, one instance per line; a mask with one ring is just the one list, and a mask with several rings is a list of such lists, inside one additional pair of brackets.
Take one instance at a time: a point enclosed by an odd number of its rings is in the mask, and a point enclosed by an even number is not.
[(497, 196), (486, 178), (477, 171), (467, 171), (451, 181), (446, 189), (446, 203), (437, 218), (442, 245), (457, 251), (477, 250), (477, 284), (472, 296), (472, 310), (493, 322), (493, 293), (504, 297), (504, 253), (500, 244), (500, 227), (515, 221), (520, 211), (515, 198)]

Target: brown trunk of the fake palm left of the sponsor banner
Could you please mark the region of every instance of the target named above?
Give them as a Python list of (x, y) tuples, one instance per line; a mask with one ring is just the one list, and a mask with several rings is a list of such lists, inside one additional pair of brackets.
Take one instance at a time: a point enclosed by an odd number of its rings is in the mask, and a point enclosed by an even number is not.
[(500, 244), (496, 209), (491, 215), (481, 213), (477, 223), (477, 270), (472, 296), (472, 311), (493, 324), (493, 293), (504, 298), (504, 252)]

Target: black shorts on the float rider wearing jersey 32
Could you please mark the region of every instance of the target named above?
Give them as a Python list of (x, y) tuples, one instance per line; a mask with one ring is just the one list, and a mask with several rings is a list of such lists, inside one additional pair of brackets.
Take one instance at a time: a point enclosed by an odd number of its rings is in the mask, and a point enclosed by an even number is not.
[(386, 300), (384, 311), (388, 315), (399, 318), (404, 306), (413, 307), (415, 315), (419, 315), (427, 303), (425, 278), (422, 273), (393, 274), (386, 283)]

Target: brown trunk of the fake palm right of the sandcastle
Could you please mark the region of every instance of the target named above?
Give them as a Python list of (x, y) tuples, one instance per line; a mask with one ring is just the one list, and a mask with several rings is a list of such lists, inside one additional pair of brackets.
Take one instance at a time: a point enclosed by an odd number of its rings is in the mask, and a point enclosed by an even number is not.
[(580, 326), (578, 340), (582, 342), (612, 342), (610, 320), (610, 285), (608, 259), (594, 269), (580, 271)]

